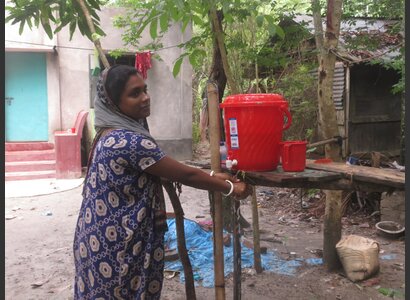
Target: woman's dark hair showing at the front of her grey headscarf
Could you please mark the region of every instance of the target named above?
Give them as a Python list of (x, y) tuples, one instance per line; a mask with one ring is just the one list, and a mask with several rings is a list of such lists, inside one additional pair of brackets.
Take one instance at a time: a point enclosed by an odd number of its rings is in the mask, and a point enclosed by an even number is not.
[(120, 97), (128, 79), (137, 74), (139, 74), (137, 69), (126, 65), (114, 65), (108, 69), (104, 87), (108, 97), (115, 105), (120, 104)]

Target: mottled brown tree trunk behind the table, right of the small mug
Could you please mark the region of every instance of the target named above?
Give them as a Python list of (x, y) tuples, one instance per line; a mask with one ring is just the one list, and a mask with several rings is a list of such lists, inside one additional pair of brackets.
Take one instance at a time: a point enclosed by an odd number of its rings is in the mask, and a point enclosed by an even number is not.
[[(335, 70), (336, 50), (339, 40), (340, 21), (342, 14), (342, 0), (328, 0), (326, 13), (326, 31), (323, 46), (318, 45), (319, 50), (319, 134), (322, 139), (330, 139), (339, 135), (337, 126), (336, 110), (333, 103), (333, 75)], [(312, 0), (312, 8), (315, 9), (315, 27), (318, 31), (321, 20), (318, 13), (317, 1)], [(319, 7), (320, 8), (320, 7)], [(320, 43), (320, 33), (316, 34), (316, 42)], [(337, 143), (326, 144), (325, 155), (333, 161), (341, 161), (341, 147)], [(342, 192), (325, 191), (326, 209), (324, 216), (324, 243), (323, 260), (329, 271), (337, 270), (341, 264), (336, 252), (336, 244), (341, 238), (342, 219)]]

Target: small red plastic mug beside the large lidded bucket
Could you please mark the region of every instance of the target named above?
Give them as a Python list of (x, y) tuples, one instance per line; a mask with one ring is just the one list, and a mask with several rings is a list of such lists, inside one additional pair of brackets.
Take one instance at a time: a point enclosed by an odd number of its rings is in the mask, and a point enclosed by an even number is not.
[(306, 167), (306, 141), (281, 143), (282, 168), (286, 172), (302, 172)]

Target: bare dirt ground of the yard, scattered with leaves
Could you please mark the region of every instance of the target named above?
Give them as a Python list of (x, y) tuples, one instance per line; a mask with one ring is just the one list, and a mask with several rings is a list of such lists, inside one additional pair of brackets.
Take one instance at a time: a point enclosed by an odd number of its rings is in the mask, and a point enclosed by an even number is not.
[[(24, 188), (24, 187), (22, 187)], [(49, 195), (5, 199), (6, 299), (72, 299), (74, 265), (72, 241), (82, 186)], [(282, 258), (318, 258), (323, 247), (323, 198), (320, 191), (304, 195), (300, 190), (258, 187), (262, 246)], [(185, 216), (209, 220), (206, 191), (183, 187), (180, 196)], [(167, 211), (172, 206), (167, 203)], [(241, 203), (251, 222), (251, 201)], [(356, 234), (380, 243), (380, 271), (364, 282), (353, 283), (342, 271), (328, 273), (323, 265), (300, 267), (295, 276), (243, 269), (242, 299), (391, 299), (382, 291), (404, 299), (405, 242), (376, 234), (377, 216), (348, 210), (342, 234)], [(252, 232), (245, 231), (252, 238)], [(226, 298), (233, 298), (232, 276), (226, 278)], [(196, 287), (197, 299), (214, 299), (213, 288)], [(162, 299), (185, 299), (179, 276), (164, 280)]]

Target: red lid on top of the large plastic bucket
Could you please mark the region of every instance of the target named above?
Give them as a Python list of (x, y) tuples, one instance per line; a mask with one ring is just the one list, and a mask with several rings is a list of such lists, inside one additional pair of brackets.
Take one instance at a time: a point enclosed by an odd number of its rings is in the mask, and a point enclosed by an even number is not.
[(279, 94), (237, 94), (225, 98), (221, 108), (249, 106), (288, 106), (285, 98)]

